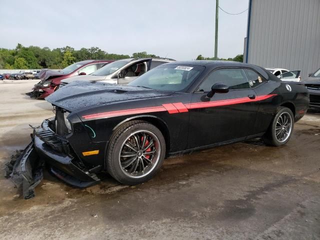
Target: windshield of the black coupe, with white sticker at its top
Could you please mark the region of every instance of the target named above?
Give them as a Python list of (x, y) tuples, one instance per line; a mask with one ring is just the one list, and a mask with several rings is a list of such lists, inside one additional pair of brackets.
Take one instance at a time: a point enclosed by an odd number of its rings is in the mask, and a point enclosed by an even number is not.
[(143, 86), (156, 90), (182, 91), (204, 70), (203, 66), (195, 65), (160, 65), (147, 71), (130, 86)]

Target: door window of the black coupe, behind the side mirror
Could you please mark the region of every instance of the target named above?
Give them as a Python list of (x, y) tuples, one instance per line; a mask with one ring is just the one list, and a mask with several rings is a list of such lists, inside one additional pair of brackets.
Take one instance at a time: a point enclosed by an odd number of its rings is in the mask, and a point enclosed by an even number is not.
[(229, 89), (250, 88), (244, 70), (241, 68), (225, 68), (210, 72), (210, 74), (200, 84), (197, 91), (210, 91), (215, 83), (223, 83)]

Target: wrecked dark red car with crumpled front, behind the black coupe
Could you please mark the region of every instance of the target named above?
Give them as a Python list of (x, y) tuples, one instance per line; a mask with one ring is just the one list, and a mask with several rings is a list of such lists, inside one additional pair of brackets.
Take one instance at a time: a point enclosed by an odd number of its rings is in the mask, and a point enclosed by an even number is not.
[(31, 92), (25, 93), (30, 97), (43, 99), (58, 89), (62, 79), (87, 75), (110, 63), (110, 60), (84, 60), (75, 62), (62, 70), (42, 69), (39, 72), (40, 81), (36, 83)]

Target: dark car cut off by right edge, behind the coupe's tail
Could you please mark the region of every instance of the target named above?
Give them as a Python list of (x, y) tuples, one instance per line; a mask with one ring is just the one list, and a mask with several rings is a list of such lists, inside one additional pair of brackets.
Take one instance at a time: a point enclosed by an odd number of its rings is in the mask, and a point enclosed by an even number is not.
[(303, 83), (309, 90), (309, 106), (320, 108), (320, 68), (313, 73), (309, 73), (309, 77), (303, 80)]

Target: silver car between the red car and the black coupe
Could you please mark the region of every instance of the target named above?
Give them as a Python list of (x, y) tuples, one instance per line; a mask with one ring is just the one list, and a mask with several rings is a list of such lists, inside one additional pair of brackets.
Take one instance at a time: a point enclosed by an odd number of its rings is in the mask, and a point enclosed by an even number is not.
[(127, 84), (146, 71), (163, 63), (175, 61), (169, 58), (127, 58), (114, 61), (87, 76), (74, 76), (61, 81), (61, 86), (75, 80), (102, 81)]

